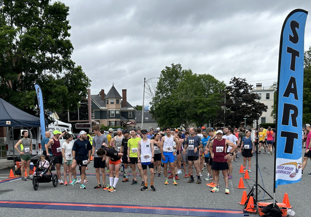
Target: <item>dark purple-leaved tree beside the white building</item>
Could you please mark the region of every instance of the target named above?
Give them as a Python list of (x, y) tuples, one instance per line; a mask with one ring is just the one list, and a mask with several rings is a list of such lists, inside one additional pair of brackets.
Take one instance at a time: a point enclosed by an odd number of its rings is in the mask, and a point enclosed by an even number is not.
[(253, 85), (248, 84), (246, 79), (233, 77), (230, 84), (225, 88), (226, 103), (220, 103), (223, 108), (217, 110), (216, 123), (224, 123), (225, 117), (225, 125), (238, 127), (244, 121), (244, 117), (247, 118), (247, 123), (252, 123), (259, 119), (263, 111), (267, 111), (268, 106), (257, 101), (259, 95), (250, 93)]

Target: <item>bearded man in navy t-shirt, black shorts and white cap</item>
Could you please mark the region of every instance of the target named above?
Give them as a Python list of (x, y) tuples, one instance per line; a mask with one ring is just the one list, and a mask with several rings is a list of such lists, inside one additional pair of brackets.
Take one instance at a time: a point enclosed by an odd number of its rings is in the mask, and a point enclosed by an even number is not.
[[(72, 166), (71, 166), (71, 172), (73, 175), (73, 180), (71, 185), (76, 184), (77, 182), (77, 171), (76, 167), (77, 165), (81, 166), (81, 180), (85, 180), (86, 176), (86, 166), (90, 162), (90, 157), (92, 153), (92, 146), (91, 143), (86, 140), (86, 132), (81, 131), (80, 137), (73, 143), (72, 147)], [(86, 189), (86, 186), (81, 183), (80, 188)]]

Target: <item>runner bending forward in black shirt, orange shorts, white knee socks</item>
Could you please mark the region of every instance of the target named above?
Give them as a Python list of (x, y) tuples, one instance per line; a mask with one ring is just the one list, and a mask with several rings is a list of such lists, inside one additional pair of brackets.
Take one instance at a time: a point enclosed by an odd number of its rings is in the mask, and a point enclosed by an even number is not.
[[(109, 156), (109, 184), (104, 188), (105, 191), (114, 192), (116, 191), (116, 185), (119, 181), (119, 169), (121, 165), (122, 153), (119, 153), (114, 148), (100, 148), (96, 151), (97, 155), (100, 157)], [(115, 177), (113, 177), (113, 172), (115, 172)]]

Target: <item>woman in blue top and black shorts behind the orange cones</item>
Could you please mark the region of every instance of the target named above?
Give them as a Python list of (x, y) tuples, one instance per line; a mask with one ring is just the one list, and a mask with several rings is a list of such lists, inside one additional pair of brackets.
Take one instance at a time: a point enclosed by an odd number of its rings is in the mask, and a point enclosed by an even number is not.
[(252, 157), (254, 153), (254, 146), (252, 145), (252, 140), (251, 140), (251, 132), (246, 131), (246, 136), (242, 138), (242, 145), (241, 145), (241, 150), (242, 150), (242, 156), (243, 156), (243, 169), (245, 170), (246, 167), (246, 158), (248, 160), (248, 172), (251, 172), (251, 166), (252, 166)]

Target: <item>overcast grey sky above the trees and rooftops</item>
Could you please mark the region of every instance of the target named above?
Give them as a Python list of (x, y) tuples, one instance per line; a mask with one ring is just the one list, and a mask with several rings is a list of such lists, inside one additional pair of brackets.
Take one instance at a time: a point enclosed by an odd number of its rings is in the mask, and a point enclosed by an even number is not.
[(91, 93), (107, 93), (114, 83), (133, 106), (142, 104), (144, 77), (158, 77), (172, 63), (225, 83), (235, 76), (270, 86), (284, 19), (297, 8), (311, 11), (310, 0), (61, 1), (70, 8), (72, 60), (92, 80)]

